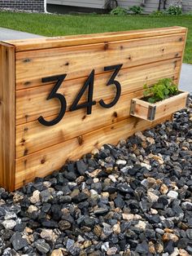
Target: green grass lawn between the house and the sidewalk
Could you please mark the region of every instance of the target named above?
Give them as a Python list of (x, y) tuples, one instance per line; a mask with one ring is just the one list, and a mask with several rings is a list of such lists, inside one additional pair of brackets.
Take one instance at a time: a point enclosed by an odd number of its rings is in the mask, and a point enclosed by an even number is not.
[(48, 37), (175, 25), (189, 29), (184, 62), (192, 64), (192, 15), (153, 17), (150, 15), (46, 15), (0, 12), (0, 27)]

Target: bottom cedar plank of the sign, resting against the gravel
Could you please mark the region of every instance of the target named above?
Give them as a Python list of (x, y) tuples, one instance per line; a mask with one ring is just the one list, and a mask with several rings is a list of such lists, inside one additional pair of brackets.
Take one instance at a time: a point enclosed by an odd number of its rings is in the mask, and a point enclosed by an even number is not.
[(93, 148), (100, 148), (104, 143), (116, 144), (120, 139), (127, 139), (137, 130), (151, 128), (170, 118), (169, 115), (158, 121), (148, 122), (131, 117), (85, 135), (79, 135), (27, 157), (21, 157), (16, 160), (15, 188), (20, 188), (35, 177), (45, 177), (53, 170), (58, 170), (65, 161), (76, 160)]

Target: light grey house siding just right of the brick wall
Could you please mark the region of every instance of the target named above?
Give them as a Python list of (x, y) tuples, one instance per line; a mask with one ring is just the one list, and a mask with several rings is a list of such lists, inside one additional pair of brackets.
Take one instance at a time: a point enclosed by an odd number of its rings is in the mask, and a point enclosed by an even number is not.
[(105, 8), (106, 0), (47, 0), (49, 4), (57, 4), (70, 7)]

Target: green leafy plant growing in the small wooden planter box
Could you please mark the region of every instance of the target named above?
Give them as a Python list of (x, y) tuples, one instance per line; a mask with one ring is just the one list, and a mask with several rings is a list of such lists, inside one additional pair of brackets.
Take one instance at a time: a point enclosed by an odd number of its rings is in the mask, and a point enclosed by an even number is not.
[(160, 79), (151, 87), (144, 85), (144, 89), (146, 90), (144, 90), (143, 95), (149, 103), (168, 99), (169, 97), (178, 94), (177, 86), (172, 82), (171, 78)]

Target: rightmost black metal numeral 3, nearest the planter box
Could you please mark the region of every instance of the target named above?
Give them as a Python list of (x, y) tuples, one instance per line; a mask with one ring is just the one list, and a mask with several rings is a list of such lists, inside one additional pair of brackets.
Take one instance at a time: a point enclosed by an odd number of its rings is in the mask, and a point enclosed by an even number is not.
[(116, 81), (116, 75), (120, 72), (120, 68), (122, 67), (123, 64), (118, 64), (118, 65), (114, 65), (114, 66), (109, 66), (109, 67), (105, 67), (104, 71), (110, 71), (110, 70), (115, 70), (114, 73), (112, 74), (111, 78), (109, 79), (109, 81), (107, 82), (107, 86), (111, 86), (111, 85), (115, 85), (116, 86), (116, 97), (113, 99), (113, 101), (111, 101), (110, 104), (105, 104), (103, 99), (99, 100), (99, 104), (103, 107), (103, 108), (111, 108), (114, 105), (116, 105), (117, 101), (120, 99), (120, 94), (121, 94), (121, 86), (120, 86), (120, 82)]

